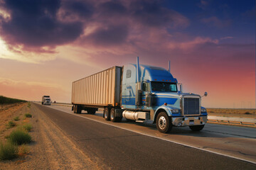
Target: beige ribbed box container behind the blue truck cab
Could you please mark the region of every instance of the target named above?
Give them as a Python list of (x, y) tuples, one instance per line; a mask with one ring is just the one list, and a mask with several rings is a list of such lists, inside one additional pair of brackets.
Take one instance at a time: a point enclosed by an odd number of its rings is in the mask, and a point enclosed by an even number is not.
[(72, 103), (85, 106), (117, 106), (120, 102), (122, 67), (111, 67), (74, 81)]

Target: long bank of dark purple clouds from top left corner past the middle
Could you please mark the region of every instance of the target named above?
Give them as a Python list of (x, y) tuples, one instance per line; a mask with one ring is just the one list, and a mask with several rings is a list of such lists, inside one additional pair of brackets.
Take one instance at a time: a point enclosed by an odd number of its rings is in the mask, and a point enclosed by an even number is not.
[[(0, 15), (1, 38), (10, 49), (23, 45), (23, 50), (37, 52), (78, 38), (80, 45), (120, 45), (127, 42), (129, 33), (186, 23), (185, 17), (158, 1), (4, 0), (3, 6), (11, 18)], [(85, 28), (95, 26), (83, 35)]]

